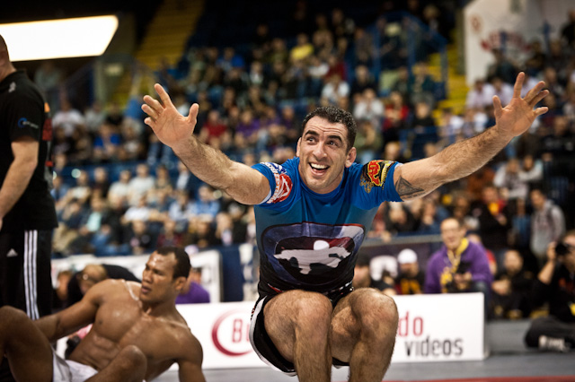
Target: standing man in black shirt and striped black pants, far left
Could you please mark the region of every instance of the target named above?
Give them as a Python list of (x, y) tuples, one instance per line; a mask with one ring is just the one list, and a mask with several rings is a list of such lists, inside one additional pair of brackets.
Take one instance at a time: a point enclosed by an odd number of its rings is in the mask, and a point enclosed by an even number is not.
[(52, 184), (49, 106), (10, 62), (0, 36), (0, 306), (50, 314)]

